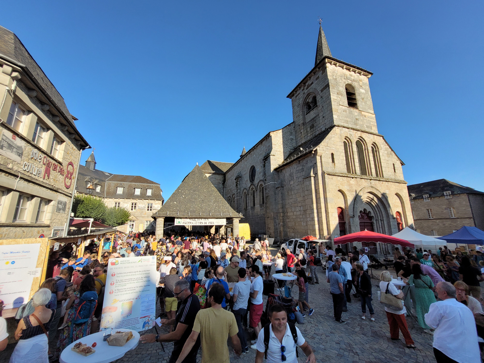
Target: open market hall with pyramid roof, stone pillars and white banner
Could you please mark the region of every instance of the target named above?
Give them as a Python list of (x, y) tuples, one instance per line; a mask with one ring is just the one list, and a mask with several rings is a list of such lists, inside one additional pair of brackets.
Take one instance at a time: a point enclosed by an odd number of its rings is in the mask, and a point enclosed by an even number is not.
[(239, 233), (242, 213), (234, 211), (214, 187), (209, 180), (213, 174), (207, 176), (207, 171), (202, 170), (210, 167), (215, 173), (218, 167), (226, 167), (222, 164), (229, 163), (207, 161), (202, 166), (197, 164), (183, 179), (166, 203), (152, 214), (156, 220), (156, 238), (163, 237), (164, 228), (172, 225), (211, 232), (217, 227), (220, 233), (224, 233), (226, 225), (231, 224), (233, 234)]

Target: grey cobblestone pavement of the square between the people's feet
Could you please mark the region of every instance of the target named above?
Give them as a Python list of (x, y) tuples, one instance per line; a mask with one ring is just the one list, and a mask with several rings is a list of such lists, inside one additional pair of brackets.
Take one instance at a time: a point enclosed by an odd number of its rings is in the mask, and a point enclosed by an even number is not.
[[(324, 276), (321, 267), (318, 274)], [(379, 272), (376, 272), (379, 275)], [(372, 280), (373, 292), (379, 290), (379, 280)], [(297, 287), (292, 289), (293, 297), (297, 298)], [(354, 292), (354, 291), (353, 291)], [(278, 290), (276, 288), (276, 293)], [(264, 307), (267, 297), (264, 296)], [(329, 284), (326, 278), (320, 280), (319, 285), (309, 285), (309, 303), (315, 309), (314, 314), (306, 316), (304, 324), (296, 324), (306, 341), (313, 347), (318, 363), (391, 363), (391, 362), (436, 362), (432, 348), (432, 335), (423, 333), (418, 326), (416, 318), (407, 317), (408, 328), (416, 349), (405, 347), (405, 341), (400, 334), (400, 341), (390, 339), (390, 330), (387, 317), (381, 304), (373, 300), (375, 309), (375, 322), (361, 319), (361, 305), (359, 299), (352, 299), (348, 303), (348, 312), (343, 313), (343, 320), (347, 324), (338, 324), (333, 318), (333, 300), (330, 295)], [(159, 328), (165, 333), (168, 328)], [(154, 329), (148, 333), (155, 333)], [(241, 358), (230, 348), (231, 362), (255, 362), (256, 351), (250, 349), (249, 353)], [(166, 363), (170, 358), (173, 343), (163, 343), (166, 352), (163, 352), (159, 343), (140, 344), (136, 349), (126, 353), (118, 362)], [(200, 362), (201, 355), (199, 351)], [(299, 349), (299, 362), (305, 362), (304, 353)]]

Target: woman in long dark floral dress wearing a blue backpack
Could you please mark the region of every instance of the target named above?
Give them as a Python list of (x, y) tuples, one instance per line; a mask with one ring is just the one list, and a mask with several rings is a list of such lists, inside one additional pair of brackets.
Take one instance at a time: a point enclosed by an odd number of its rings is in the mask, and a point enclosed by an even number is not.
[(79, 291), (76, 291), (74, 296), (67, 303), (66, 310), (69, 311), (67, 325), (62, 328), (61, 334), (59, 335), (59, 341), (57, 342), (57, 351), (59, 354), (61, 354), (62, 350), (72, 342), (91, 333), (92, 317), (82, 324), (74, 323), (76, 312), (80, 305), (80, 297), (87, 291), (96, 291), (96, 285), (94, 284), (94, 277), (92, 275), (86, 275), (79, 286)]

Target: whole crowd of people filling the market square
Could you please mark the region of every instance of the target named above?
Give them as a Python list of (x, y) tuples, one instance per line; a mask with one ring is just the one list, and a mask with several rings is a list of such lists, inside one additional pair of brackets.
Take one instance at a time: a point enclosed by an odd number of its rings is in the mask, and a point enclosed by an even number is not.
[[(302, 318), (315, 311), (309, 303), (309, 285), (319, 284), (319, 255), (335, 322), (347, 323), (343, 313), (348, 312), (348, 303), (353, 300), (360, 300), (362, 320), (375, 321), (378, 291), (372, 287), (371, 262), (363, 249), (354, 247), (346, 253), (341, 246), (333, 251), (330, 245), (309, 243), (307, 250), (301, 248), (296, 255), (281, 249), (273, 251), (272, 256), (267, 240), (247, 244), (239, 236), (217, 234), (166, 235), (156, 240), (149, 233), (117, 233), (111, 245), (111, 251), (101, 253), (99, 243), (92, 241), (82, 257), (73, 256), (70, 245), (51, 253), (48, 278), (17, 313), (15, 339), (19, 343), (11, 363), (25, 360), (26, 352), (33, 362), (46, 363), (47, 357), (56, 360), (69, 344), (99, 330), (109, 258), (156, 256), (156, 293), (162, 324), (168, 330), (161, 335), (144, 334), (140, 342), (174, 342), (169, 363), (196, 362), (200, 348), (202, 362), (228, 362), (228, 337), (237, 355), (247, 354), (250, 348), (256, 350), (257, 363), (264, 357), (271, 362), (295, 363), (298, 347), (308, 362), (316, 362), (312, 348), (288, 320), (285, 307), (271, 305), (268, 316), (263, 317), (263, 279), (270, 276), (272, 264), (275, 273), (296, 275), (295, 280), (277, 283), (288, 298), (297, 288), (294, 301)], [(434, 335), (438, 362), (474, 362), (480, 357), (477, 334), (484, 337), (480, 289), (484, 256), (476, 253), (470, 257), (461, 251), (453, 254), (447, 247), (436, 253), (418, 248), (400, 251), (397, 247), (393, 257), (394, 278), (401, 278), (407, 286), (395, 285), (389, 271), (380, 274), (379, 293), (402, 301), (400, 305), (384, 306), (391, 339), (399, 340), (401, 332), (406, 347), (416, 348), (406, 320), (411, 313), (423, 332)], [(92, 301), (97, 307), (92, 305), (78, 321), (75, 313), (79, 306)], [(460, 328), (449, 333), (449, 324)], [(455, 353), (455, 342), (472, 347)], [(0, 339), (0, 348), (1, 344)]]

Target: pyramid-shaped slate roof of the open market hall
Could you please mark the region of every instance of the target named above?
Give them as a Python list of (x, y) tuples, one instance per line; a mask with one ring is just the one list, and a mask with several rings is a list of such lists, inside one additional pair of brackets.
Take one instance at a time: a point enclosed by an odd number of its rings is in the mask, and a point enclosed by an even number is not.
[(152, 217), (242, 218), (222, 197), (200, 166), (183, 179), (166, 203)]

